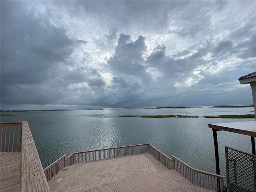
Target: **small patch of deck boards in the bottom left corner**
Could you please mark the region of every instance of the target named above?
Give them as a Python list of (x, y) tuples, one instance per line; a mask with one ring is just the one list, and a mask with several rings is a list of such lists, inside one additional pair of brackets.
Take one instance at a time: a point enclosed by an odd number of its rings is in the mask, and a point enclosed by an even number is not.
[(1, 192), (20, 191), (20, 152), (0, 153), (0, 182)]

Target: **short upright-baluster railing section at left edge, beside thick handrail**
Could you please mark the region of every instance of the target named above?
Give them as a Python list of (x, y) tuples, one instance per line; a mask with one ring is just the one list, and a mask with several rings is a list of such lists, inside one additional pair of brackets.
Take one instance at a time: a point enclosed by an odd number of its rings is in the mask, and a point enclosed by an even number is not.
[(1, 122), (0, 152), (21, 152), (22, 122)]

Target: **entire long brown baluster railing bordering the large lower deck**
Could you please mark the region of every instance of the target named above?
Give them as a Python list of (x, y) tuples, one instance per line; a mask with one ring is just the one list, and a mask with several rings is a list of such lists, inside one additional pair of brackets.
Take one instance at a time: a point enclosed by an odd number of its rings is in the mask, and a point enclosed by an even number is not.
[(65, 166), (70, 166), (74, 163), (86, 162), (86, 161), (94, 161), (108, 158), (115, 158), (119, 156), (127, 156), (141, 153), (150, 153), (154, 158), (160, 161), (166, 168), (175, 169), (178, 173), (180, 173), (184, 178), (192, 182), (197, 186), (201, 186), (203, 188), (207, 188), (210, 190), (218, 190), (218, 182), (219, 179), (221, 182), (220, 189), (223, 192), (224, 176), (204, 172), (201, 170), (197, 170), (184, 163), (180, 159), (175, 156), (172, 159), (166, 156), (164, 153), (156, 149), (150, 144), (140, 144), (140, 145), (131, 145), (131, 146), (123, 146), (123, 147), (115, 147), (115, 148), (107, 148), (100, 150), (90, 150), (83, 152), (75, 152), (70, 154), (69, 156), (62, 156), (48, 167), (44, 169), (44, 173), (47, 181), (50, 180), (54, 175), (56, 175), (62, 168)]

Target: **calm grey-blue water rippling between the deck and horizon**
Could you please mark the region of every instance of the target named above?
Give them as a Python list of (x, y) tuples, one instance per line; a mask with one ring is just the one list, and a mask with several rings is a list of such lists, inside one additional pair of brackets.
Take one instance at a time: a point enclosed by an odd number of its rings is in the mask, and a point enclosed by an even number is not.
[[(212, 130), (208, 124), (253, 119), (204, 118), (204, 115), (254, 114), (254, 108), (100, 109), (12, 112), (1, 121), (27, 121), (43, 167), (63, 154), (150, 143), (194, 168), (216, 172)], [(9, 112), (10, 114), (10, 112)], [(132, 118), (118, 115), (198, 115), (199, 118)], [(220, 172), (225, 175), (224, 146), (251, 153), (250, 136), (218, 132)]]

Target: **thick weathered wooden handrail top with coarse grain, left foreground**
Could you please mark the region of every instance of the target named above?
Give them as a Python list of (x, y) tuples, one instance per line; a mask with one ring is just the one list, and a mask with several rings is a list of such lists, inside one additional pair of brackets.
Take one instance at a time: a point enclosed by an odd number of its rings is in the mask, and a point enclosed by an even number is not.
[(50, 192), (50, 188), (36, 150), (36, 145), (27, 122), (22, 123), (20, 190)]

